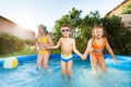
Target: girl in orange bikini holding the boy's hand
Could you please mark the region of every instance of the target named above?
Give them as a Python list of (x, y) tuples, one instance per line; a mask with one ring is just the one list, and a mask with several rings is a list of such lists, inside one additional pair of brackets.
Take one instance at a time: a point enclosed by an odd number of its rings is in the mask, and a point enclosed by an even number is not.
[(103, 54), (103, 50), (106, 47), (107, 51), (111, 54), (112, 59), (118, 62), (116, 59), (112, 49), (110, 48), (106, 37), (104, 37), (104, 27), (95, 26), (92, 29), (92, 38), (88, 41), (87, 48), (84, 53), (84, 58), (90, 53), (90, 60), (92, 64), (93, 73), (96, 72), (97, 65), (100, 67), (103, 72), (106, 72), (105, 59)]

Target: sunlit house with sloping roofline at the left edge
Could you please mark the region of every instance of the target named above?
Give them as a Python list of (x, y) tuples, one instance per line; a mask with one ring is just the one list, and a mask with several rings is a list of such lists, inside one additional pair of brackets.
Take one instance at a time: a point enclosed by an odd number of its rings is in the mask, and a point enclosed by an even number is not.
[(22, 26), (15, 24), (14, 22), (0, 15), (0, 32), (14, 35), (22, 39), (35, 39), (35, 33), (23, 28)]

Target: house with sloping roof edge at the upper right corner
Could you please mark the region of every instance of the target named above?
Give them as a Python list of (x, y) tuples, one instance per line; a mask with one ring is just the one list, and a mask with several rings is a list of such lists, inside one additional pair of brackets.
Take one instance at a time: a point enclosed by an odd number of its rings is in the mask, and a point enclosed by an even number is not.
[[(120, 3), (110, 12), (108, 12), (106, 16), (107, 17), (110, 17), (112, 15), (120, 16), (123, 25), (128, 27), (128, 29), (131, 32), (131, 13), (122, 13), (126, 10), (126, 7), (128, 5), (131, 5), (131, 0), (124, 0), (122, 3)], [(131, 11), (131, 9), (128, 10)]]

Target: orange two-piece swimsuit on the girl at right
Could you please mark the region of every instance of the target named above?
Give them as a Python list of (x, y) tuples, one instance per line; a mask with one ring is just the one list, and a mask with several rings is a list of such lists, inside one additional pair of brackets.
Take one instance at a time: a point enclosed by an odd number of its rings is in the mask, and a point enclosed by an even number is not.
[[(100, 38), (102, 40), (102, 45), (98, 46), (98, 44), (96, 42), (96, 38), (93, 40), (93, 49), (104, 49), (105, 46), (106, 46), (106, 40), (104, 38)], [(99, 58), (99, 57), (103, 57), (103, 53), (95, 53), (95, 52), (92, 52), (93, 55), (95, 55), (96, 58)]]

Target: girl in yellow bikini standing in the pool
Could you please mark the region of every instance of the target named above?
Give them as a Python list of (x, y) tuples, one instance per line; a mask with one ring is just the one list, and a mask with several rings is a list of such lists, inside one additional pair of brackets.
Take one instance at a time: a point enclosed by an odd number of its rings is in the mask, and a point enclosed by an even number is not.
[(38, 52), (37, 57), (37, 67), (41, 67), (41, 62), (44, 61), (44, 67), (48, 67), (49, 50), (45, 46), (52, 46), (52, 40), (45, 25), (38, 26), (38, 35), (35, 44), (36, 50)]

